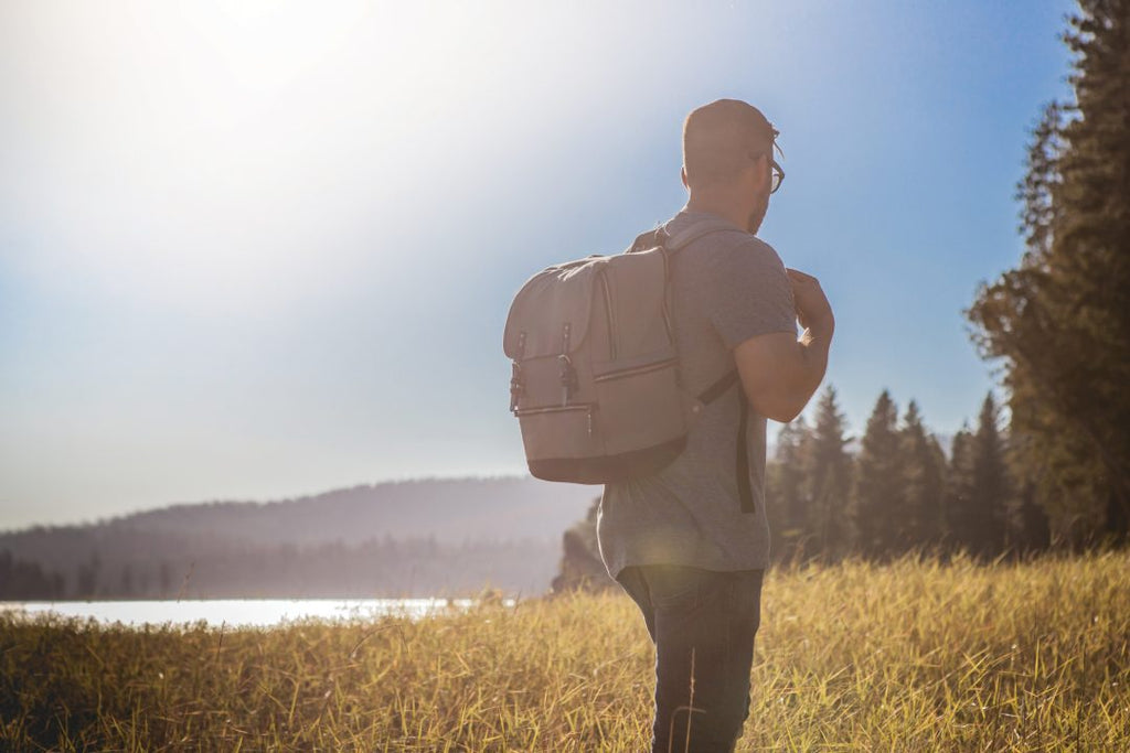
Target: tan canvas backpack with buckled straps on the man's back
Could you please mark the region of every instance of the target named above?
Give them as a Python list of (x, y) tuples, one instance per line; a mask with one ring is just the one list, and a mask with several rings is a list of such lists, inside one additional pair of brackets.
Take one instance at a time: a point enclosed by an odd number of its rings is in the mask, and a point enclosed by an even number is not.
[(655, 473), (686, 447), (703, 406), (738, 382), (732, 369), (688, 394), (671, 321), (671, 255), (721, 230), (737, 228), (704, 220), (675, 237), (659, 228), (621, 254), (549, 266), (522, 286), (503, 350), (513, 361), (510, 410), (533, 476), (609, 483)]

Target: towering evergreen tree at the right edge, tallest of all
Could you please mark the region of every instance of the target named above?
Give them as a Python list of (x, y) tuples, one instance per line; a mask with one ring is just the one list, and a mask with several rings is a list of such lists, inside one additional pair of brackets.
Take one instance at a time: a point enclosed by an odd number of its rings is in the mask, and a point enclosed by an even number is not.
[(1027, 252), (967, 312), (1005, 362), (1024, 483), (1076, 542), (1130, 519), (1130, 0), (1080, 0), (1075, 102), (1044, 111), (1019, 186)]

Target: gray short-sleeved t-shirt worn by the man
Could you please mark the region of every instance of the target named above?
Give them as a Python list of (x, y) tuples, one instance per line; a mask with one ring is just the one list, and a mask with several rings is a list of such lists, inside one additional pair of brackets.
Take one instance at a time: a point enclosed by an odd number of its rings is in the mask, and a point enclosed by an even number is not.
[[(721, 219), (681, 211), (675, 235), (696, 221)], [(675, 338), (683, 383), (701, 394), (734, 368), (733, 349), (773, 332), (797, 333), (792, 287), (768, 244), (736, 231), (705, 235), (671, 262)], [(768, 567), (765, 518), (765, 418), (750, 406), (746, 447), (755, 510), (742, 513), (737, 449), (740, 400), (734, 383), (701, 413), (686, 450), (659, 473), (605, 487), (597, 519), (600, 554), (614, 578), (640, 564), (706, 570)]]

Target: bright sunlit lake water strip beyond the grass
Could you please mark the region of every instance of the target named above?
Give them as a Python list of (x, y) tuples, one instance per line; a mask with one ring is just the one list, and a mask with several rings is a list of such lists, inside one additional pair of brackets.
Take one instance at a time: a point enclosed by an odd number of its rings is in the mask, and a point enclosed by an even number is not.
[[(513, 605), (513, 599), (503, 602)], [(450, 610), (466, 610), (470, 598), (263, 598), (183, 599), (154, 602), (0, 602), (0, 612), (28, 615), (54, 613), (64, 618), (94, 619), (104, 624), (191, 624), (206, 622), (219, 628), (269, 628), (296, 620), (372, 620), (388, 615), (423, 619)]]

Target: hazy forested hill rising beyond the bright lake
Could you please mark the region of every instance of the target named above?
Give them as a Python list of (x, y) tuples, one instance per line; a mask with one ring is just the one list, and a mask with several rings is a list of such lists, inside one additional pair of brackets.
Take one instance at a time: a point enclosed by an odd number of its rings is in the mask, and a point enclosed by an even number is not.
[[(0, 533), (67, 597), (542, 592), (599, 487), (530, 478), (381, 483)], [(191, 573), (191, 575), (190, 575)]]

